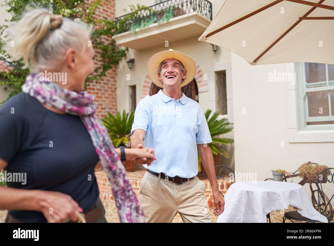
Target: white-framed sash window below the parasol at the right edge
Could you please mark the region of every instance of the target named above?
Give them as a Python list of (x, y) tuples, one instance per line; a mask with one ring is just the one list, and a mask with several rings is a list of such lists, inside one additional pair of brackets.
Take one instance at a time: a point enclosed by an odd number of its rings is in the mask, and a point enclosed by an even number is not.
[(301, 63), (298, 73), (299, 129), (334, 129), (334, 65)]

